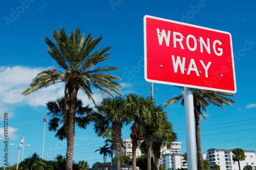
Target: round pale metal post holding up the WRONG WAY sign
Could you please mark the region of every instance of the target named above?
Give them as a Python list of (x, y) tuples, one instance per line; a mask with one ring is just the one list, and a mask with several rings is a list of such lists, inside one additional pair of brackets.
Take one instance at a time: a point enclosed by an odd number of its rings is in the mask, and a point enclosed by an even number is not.
[(197, 169), (196, 132), (193, 88), (184, 87), (187, 169)]

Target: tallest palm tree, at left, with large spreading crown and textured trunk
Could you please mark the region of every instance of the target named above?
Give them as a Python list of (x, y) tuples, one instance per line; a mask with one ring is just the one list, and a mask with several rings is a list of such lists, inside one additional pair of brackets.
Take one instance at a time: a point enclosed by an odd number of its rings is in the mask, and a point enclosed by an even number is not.
[(66, 169), (70, 170), (73, 164), (77, 92), (81, 89), (87, 94), (90, 100), (93, 100), (92, 86), (111, 96), (113, 96), (111, 91), (119, 94), (118, 90), (121, 85), (115, 82), (115, 80), (120, 79), (117, 76), (106, 74), (106, 71), (117, 70), (119, 68), (95, 68), (99, 62), (109, 58), (109, 54), (105, 52), (111, 48), (108, 46), (102, 50), (94, 51), (96, 45), (102, 39), (101, 36), (95, 39), (92, 34), (89, 34), (85, 38), (84, 34), (81, 34), (80, 29), (77, 28), (71, 31), (68, 37), (65, 30), (60, 28), (59, 32), (53, 30), (53, 37), (57, 45), (48, 37), (45, 37), (45, 42), (50, 47), (50, 50), (47, 51), (63, 71), (51, 68), (40, 72), (32, 80), (30, 87), (22, 94), (28, 95), (39, 89), (59, 82), (65, 82), (65, 99), (66, 101), (69, 99), (69, 103), (66, 104), (67, 109), (69, 109)]

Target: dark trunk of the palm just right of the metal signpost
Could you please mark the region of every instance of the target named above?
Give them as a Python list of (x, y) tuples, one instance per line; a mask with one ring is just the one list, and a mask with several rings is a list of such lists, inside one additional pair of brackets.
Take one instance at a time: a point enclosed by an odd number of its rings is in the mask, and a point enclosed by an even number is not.
[(201, 149), (201, 136), (200, 136), (200, 110), (198, 113), (195, 112), (196, 121), (196, 142), (197, 142), (197, 157), (198, 165), (200, 170), (204, 170), (203, 153)]

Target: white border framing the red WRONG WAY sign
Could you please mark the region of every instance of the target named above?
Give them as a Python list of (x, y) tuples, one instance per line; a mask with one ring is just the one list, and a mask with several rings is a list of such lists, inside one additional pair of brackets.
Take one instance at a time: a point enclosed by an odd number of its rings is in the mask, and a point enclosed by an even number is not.
[[(184, 26), (190, 26), (190, 27), (195, 27), (195, 28), (199, 28), (199, 29), (204, 29), (204, 30), (209, 30), (209, 31), (229, 34), (229, 36), (230, 36), (231, 58), (232, 58), (234, 90), (233, 91), (232, 90), (224, 90), (224, 89), (218, 89), (218, 88), (210, 88), (210, 87), (203, 87), (203, 86), (196, 86), (196, 85), (180, 84), (180, 83), (173, 83), (173, 82), (165, 82), (165, 81), (147, 79), (146, 18), (158, 19), (158, 20), (162, 20), (162, 21), (178, 23), (178, 24), (184, 25)], [(210, 28), (196, 26), (196, 25), (191, 25), (190, 23), (184, 23), (184, 22), (179, 22), (179, 21), (174, 21), (174, 20), (170, 20), (170, 19), (159, 18), (159, 17), (155, 17), (155, 16), (150, 16), (150, 15), (145, 15), (143, 17), (143, 26), (144, 26), (144, 29), (143, 29), (144, 30), (143, 31), (144, 32), (144, 78), (145, 78), (145, 80), (147, 82), (160, 83), (160, 84), (168, 84), (168, 85), (182, 86), (182, 87), (190, 87), (190, 88), (198, 88), (198, 89), (212, 90), (212, 91), (221, 91), (221, 92), (228, 92), (228, 93), (236, 93), (237, 92), (236, 73), (234, 72), (234, 57), (233, 57), (232, 37), (231, 37), (231, 34), (229, 32), (215, 30), (215, 29), (210, 29)]]

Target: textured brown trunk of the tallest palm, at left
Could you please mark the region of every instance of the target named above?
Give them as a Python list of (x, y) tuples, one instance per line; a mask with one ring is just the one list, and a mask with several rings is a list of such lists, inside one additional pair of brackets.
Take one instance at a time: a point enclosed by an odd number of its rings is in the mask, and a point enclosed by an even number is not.
[(67, 153), (66, 153), (66, 170), (72, 170), (73, 166), (73, 149), (75, 137), (75, 109), (77, 101), (77, 90), (69, 89), (69, 121), (68, 121), (68, 136), (67, 136)]

